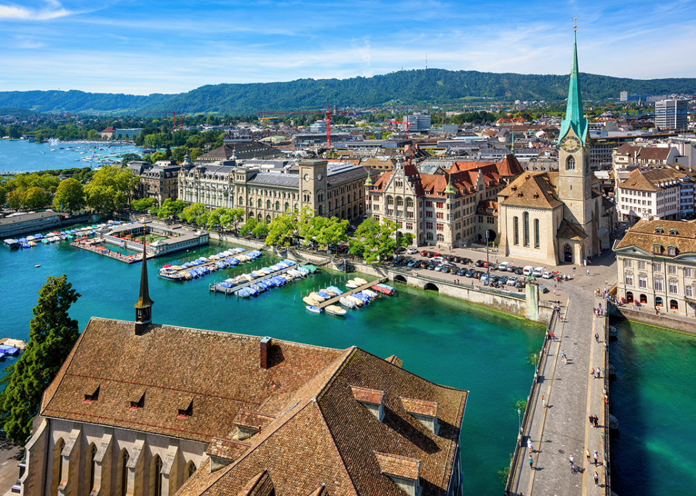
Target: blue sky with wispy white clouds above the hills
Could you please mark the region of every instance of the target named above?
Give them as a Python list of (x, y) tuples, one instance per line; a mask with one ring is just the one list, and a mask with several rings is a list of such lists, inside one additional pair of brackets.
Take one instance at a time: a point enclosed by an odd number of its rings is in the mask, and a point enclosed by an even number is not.
[(0, 90), (180, 93), (404, 69), (696, 77), (696, 0), (0, 0)]

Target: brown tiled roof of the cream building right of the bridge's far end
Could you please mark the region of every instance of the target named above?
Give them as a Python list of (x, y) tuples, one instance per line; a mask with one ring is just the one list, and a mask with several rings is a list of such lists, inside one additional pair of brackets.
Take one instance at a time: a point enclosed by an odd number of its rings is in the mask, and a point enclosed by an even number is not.
[[(655, 230), (661, 227), (662, 234)], [(679, 234), (670, 234), (670, 229), (676, 229)], [(647, 253), (653, 252), (653, 244), (663, 246), (663, 257), (667, 255), (667, 246), (677, 247), (677, 256), (696, 253), (696, 223), (681, 221), (638, 221), (626, 232), (624, 238), (614, 247), (615, 250), (639, 248)]]

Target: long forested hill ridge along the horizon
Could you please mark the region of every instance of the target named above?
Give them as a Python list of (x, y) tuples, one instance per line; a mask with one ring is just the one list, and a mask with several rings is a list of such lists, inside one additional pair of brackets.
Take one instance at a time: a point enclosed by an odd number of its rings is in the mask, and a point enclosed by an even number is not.
[[(619, 93), (665, 95), (696, 93), (696, 79), (625, 79), (581, 74), (585, 100), (618, 98)], [(568, 76), (497, 74), (443, 69), (407, 70), (351, 79), (298, 79), (285, 83), (217, 84), (179, 95), (122, 95), (81, 91), (0, 92), (0, 108), (40, 112), (219, 112), (246, 115), (260, 110), (372, 107), (393, 100), (402, 105), (461, 104), (466, 97), (546, 100), (567, 97)]]

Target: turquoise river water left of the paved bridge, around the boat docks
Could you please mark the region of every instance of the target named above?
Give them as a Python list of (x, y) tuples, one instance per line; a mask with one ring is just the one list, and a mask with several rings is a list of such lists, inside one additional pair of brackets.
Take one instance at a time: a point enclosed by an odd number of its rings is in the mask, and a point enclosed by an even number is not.
[[(341, 349), (356, 345), (383, 358), (395, 354), (409, 371), (469, 390), (461, 431), (466, 494), (502, 493), (498, 471), (509, 465), (518, 429), (514, 406), (529, 392), (533, 369), (526, 357), (541, 346), (543, 326), (398, 283), (397, 296), (380, 298), (345, 318), (310, 314), (300, 294), (326, 287), (329, 280), (336, 282), (342, 274), (332, 271), (251, 299), (209, 292), (209, 283), (220, 280), (221, 272), (190, 282), (156, 277), (162, 264), (212, 255), (230, 246), (212, 242), (150, 260), (153, 321)], [(223, 271), (224, 276), (275, 260), (264, 254), (254, 264)], [(134, 319), (141, 264), (129, 266), (62, 242), (11, 252), (2, 248), (0, 266), (3, 335), (26, 339), (36, 291), (47, 276), (63, 273), (82, 294), (70, 312), (81, 328), (92, 316)]]

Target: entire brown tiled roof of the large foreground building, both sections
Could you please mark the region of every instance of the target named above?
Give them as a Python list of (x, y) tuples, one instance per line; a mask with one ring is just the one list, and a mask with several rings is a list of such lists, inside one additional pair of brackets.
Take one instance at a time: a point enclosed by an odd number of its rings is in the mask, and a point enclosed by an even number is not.
[[(132, 322), (93, 318), (45, 392), (40, 413), (208, 442), (211, 456), (231, 462), (209, 473), (206, 461), (180, 496), (261, 495), (249, 491), (268, 484), (278, 495), (402, 496), (375, 451), (418, 461), (423, 496), (445, 495), (466, 391), (357, 348), (272, 340), (268, 369), (259, 366), (259, 350), (260, 337), (176, 326), (150, 326), (135, 336)], [(85, 403), (83, 392), (96, 381), (99, 399)], [(130, 410), (126, 398), (141, 389), (143, 407)], [(382, 422), (354, 390), (383, 394)], [(438, 434), (413, 418), (402, 398), (423, 408), (436, 403)], [(192, 414), (178, 417), (177, 406), (187, 401)], [(235, 422), (262, 427), (240, 442)]]

